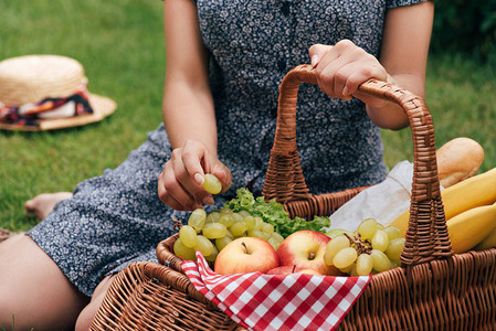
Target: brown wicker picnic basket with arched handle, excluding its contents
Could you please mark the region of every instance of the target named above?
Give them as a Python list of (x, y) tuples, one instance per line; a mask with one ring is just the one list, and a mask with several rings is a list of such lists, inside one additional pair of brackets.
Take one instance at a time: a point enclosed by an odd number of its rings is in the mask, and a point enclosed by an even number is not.
[[(316, 84), (308, 65), (292, 70), (279, 88), (277, 126), (263, 195), (292, 216), (336, 211), (363, 188), (313, 195), (296, 148), (302, 83)], [(377, 274), (339, 325), (341, 330), (496, 329), (496, 249), (454, 255), (440, 194), (434, 128), (424, 100), (391, 84), (368, 81), (360, 92), (400, 105), (413, 136), (413, 185), (402, 266)], [(108, 290), (92, 330), (233, 330), (226, 314), (198, 292), (172, 252), (178, 234), (157, 246), (160, 264), (124, 269)]]

